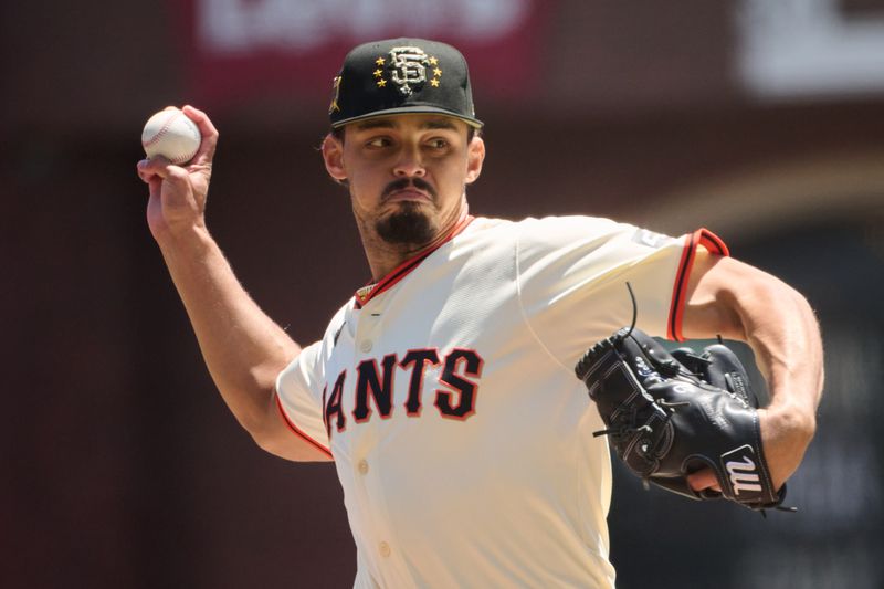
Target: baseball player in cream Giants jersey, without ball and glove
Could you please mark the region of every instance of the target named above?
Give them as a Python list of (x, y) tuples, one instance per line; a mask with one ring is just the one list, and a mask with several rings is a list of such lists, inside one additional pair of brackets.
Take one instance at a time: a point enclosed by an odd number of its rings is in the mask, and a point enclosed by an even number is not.
[(138, 173), (224, 401), (266, 451), (334, 461), (355, 587), (613, 586), (611, 466), (592, 435), (604, 425), (573, 366), (631, 322), (627, 282), (644, 332), (751, 345), (771, 391), (759, 416), (776, 486), (794, 472), (822, 387), (800, 294), (703, 229), (471, 215), (465, 187), (485, 145), (450, 45), (359, 45), (334, 88), (322, 154), (348, 189), (373, 281), (313, 344), (255, 305), (206, 227), (218, 139), (206, 114), (185, 108), (203, 135), (190, 165), (157, 158)]

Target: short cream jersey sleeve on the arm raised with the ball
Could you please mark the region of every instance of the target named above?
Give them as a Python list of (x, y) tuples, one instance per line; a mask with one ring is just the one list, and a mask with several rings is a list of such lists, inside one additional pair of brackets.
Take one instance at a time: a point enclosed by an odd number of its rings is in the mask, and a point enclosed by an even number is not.
[(332, 456), (328, 433), (323, 420), (322, 393), (317, 391), (323, 378), (319, 361), (323, 343), (301, 350), (276, 378), (276, 404), (282, 419), (292, 432)]

